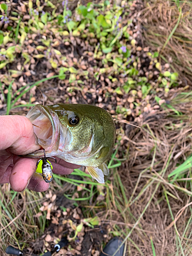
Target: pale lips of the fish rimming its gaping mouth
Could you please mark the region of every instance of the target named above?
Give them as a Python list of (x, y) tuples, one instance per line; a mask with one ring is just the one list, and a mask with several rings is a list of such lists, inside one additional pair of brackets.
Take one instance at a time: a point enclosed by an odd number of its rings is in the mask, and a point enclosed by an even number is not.
[[(41, 116), (43, 114), (51, 123), (52, 128), (52, 137), (51, 141), (50, 139), (41, 139), (38, 137), (37, 129), (35, 129), (35, 120), (38, 118), (35, 118), (35, 115)], [(49, 109), (47, 106), (42, 106), (40, 104), (35, 105), (26, 115), (27, 118), (32, 122), (34, 125), (34, 133), (36, 135), (36, 142), (39, 144), (42, 148), (45, 149), (46, 155), (50, 155), (50, 153), (54, 153), (58, 149), (58, 142), (60, 137), (60, 125), (59, 125), (59, 118), (55, 112), (53, 112), (51, 109)], [(37, 126), (38, 127), (38, 126)], [(47, 141), (46, 141), (47, 140)], [(51, 155), (52, 155), (51, 154)], [(43, 150), (37, 150), (35, 152), (32, 152), (27, 155), (28, 157), (38, 158), (44, 156)]]

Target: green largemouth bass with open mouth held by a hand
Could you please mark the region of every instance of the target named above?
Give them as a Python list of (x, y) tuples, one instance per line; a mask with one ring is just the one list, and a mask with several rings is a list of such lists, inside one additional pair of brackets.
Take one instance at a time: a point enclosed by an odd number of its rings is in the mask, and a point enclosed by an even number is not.
[[(106, 165), (114, 149), (116, 127), (113, 117), (88, 104), (36, 104), (28, 112), (36, 143), (41, 149), (27, 157), (57, 156), (66, 162), (86, 166), (93, 179), (104, 183)], [(45, 150), (45, 151), (44, 151)]]

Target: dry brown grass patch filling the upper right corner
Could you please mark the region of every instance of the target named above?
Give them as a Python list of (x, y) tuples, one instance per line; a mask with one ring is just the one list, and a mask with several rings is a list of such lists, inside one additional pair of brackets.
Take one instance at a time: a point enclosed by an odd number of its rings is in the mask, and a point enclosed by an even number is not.
[[(178, 3), (178, 4), (176, 4)], [(192, 84), (192, 3), (191, 1), (145, 1), (140, 12), (147, 45), (179, 72), (186, 84)], [(172, 32), (175, 32), (172, 34)]]

